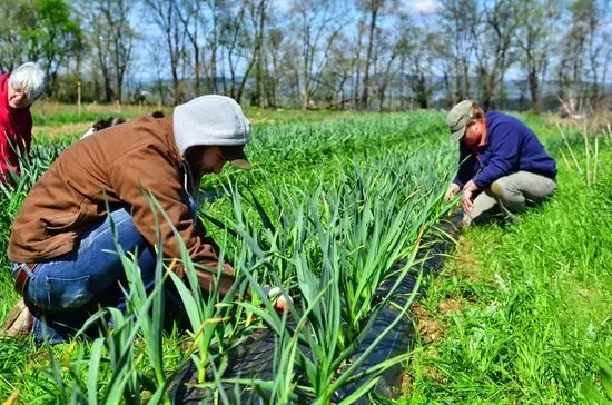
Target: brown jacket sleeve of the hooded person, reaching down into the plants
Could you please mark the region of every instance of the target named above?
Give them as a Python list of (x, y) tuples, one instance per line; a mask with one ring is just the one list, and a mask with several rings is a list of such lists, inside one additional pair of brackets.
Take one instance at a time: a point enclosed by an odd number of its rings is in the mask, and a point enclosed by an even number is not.
[[(180, 247), (172, 231), (179, 233), (193, 261), (208, 268), (198, 271), (200, 287), (214, 288), (214, 274), (217, 273), (218, 258), (213, 244), (207, 243), (204, 227), (198, 227), (191, 219), (188, 207), (182, 201), (184, 189), (180, 182), (178, 162), (168, 154), (161, 144), (145, 144), (111, 164), (110, 184), (117, 196), (129, 204), (131, 217), (140, 234), (151, 244), (157, 245), (156, 219), (159, 224), (164, 256), (180, 258)], [(164, 209), (168, 219), (157, 209), (149, 206), (146, 194), (150, 192)], [(234, 283), (233, 270), (223, 267), (219, 280), (221, 294), (226, 294)], [(179, 276), (184, 267), (175, 267)]]

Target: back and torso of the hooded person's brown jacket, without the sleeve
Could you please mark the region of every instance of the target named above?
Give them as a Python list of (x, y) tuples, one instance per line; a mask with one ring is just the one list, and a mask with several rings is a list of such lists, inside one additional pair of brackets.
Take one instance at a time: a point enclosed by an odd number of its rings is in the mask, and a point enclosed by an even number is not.
[[(178, 174), (180, 166), (171, 137), (171, 118), (144, 117), (107, 128), (103, 137), (88, 137), (62, 151), (23, 201), (13, 223), (9, 258), (36, 261), (72, 250), (80, 226), (106, 215), (103, 192), (111, 205), (125, 198), (119, 196), (125, 178), (145, 187), (154, 181), (162, 187), (161, 171)], [(151, 167), (137, 157), (130, 165), (130, 155), (141, 156), (135, 152), (142, 149), (162, 150), (175, 158), (167, 159), (167, 167)], [(134, 191), (131, 198), (141, 195)]]

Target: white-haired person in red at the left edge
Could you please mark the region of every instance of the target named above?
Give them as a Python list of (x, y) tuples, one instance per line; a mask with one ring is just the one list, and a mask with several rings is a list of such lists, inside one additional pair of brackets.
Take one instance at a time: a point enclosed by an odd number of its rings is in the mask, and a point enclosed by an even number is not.
[(0, 76), (0, 182), (19, 174), (19, 156), (30, 152), (30, 106), (42, 95), (45, 73), (32, 62)]

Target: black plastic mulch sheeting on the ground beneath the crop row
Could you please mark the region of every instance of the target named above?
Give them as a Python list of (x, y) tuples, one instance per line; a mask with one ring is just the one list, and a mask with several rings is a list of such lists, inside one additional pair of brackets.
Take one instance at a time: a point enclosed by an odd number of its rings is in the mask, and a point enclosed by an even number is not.
[[(362, 337), (361, 345), (353, 356), (352, 360), (358, 358), (367, 347), (383, 334), (383, 332), (398, 317), (402, 316), (402, 307), (406, 305), (411, 296), (416, 294), (414, 300), (418, 300), (423, 294), (423, 283), (417, 286), (419, 275), (427, 278), (430, 275), (435, 275), (444, 263), (444, 257), (448, 250), (455, 245), (455, 239), (461, 231), (458, 226), (461, 216), (456, 215), (451, 220), (442, 220), (437, 229), (432, 231), (428, 237), (423, 240), (423, 248), (417, 254), (421, 265), (412, 268), (407, 275), (398, 283), (394, 292), (393, 303), (387, 303), (373, 314), (372, 318), (365, 326), (365, 336)], [(398, 263), (397, 268), (402, 268), (405, 264)], [(377, 288), (377, 296), (384, 297), (394, 286), (397, 279), (387, 279)], [(288, 323), (287, 327), (293, 328), (295, 325)], [(260, 381), (274, 381), (275, 371), (275, 346), (277, 344), (276, 334), (273, 330), (261, 330), (260, 333), (250, 336), (247, 342), (235, 350), (228, 354), (227, 368), (223, 374), (223, 378), (258, 378)], [(413, 314), (407, 312), (403, 315), (403, 319), (398, 322), (393, 329), (378, 343), (376, 349), (372, 352), (364, 363), (358, 367), (354, 375), (365, 372), (369, 367), (379, 364), (388, 358), (406, 353), (412, 347), (414, 342), (414, 319)], [(309, 349), (305, 345), (300, 345), (299, 349), (306, 356), (309, 356)], [(295, 369), (297, 375), (303, 374), (299, 368)], [(211, 392), (208, 388), (200, 387), (196, 384), (198, 371), (193, 363), (189, 363), (172, 382), (171, 393), (175, 404), (201, 404), (213, 401)], [(208, 371), (207, 381), (213, 379), (213, 372)], [(348, 397), (365, 382), (356, 379), (336, 392), (333, 402), (339, 402)], [(402, 365), (396, 364), (387, 369), (378, 379), (373, 389), (374, 395), (381, 395), (388, 398), (396, 398), (401, 395), (401, 378)], [(225, 395), (230, 403), (240, 404), (268, 404), (270, 399), (267, 393), (263, 389), (253, 391), (246, 389), (244, 386), (225, 385)], [(300, 399), (297, 403), (310, 403), (313, 398), (305, 393), (296, 393)], [(356, 404), (368, 404), (366, 397), (362, 397), (355, 402)]]

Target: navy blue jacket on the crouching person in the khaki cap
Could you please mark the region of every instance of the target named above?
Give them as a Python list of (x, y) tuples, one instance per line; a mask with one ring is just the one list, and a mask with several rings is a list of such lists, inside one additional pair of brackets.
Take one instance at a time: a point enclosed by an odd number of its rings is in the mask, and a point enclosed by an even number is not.
[(524, 170), (545, 177), (556, 176), (556, 164), (533, 131), (519, 119), (502, 112), (485, 115), (485, 145), (470, 150), (460, 142), (460, 168), (453, 180), (462, 187), (470, 181), (487, 188), (500, 177)]

